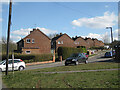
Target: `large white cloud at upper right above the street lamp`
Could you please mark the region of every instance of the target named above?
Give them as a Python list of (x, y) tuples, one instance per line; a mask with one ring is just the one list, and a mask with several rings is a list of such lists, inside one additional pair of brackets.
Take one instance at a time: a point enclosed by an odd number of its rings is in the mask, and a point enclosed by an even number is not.
[(78, 27), (89, 27), (94, 29), (104, 29), (105, 27), (114, 26), (118, 21), (118, 17), (112, 12), (105, 12), (103, 16), (96, 16), (93, 18), (79, 18), (73, 20), (72, 25)]

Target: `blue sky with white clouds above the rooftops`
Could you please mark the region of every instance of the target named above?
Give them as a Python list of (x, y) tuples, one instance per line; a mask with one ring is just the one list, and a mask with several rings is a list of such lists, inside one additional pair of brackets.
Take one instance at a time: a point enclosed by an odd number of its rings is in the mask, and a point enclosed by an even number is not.
[[(7, 35), (8, 4), (2, 4), (2, 36)], [(118, 39), (117, 2), (15, 2), (12, 6), (11, 39), (15, 42), (37, 27), (45, 34), (67, 33), (70, 37), (109, 36), (113, 27)]]

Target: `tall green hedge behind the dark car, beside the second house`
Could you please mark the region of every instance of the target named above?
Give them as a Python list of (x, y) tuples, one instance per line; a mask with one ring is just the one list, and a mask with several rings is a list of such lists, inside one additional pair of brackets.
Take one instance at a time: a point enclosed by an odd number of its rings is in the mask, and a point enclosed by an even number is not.
[(72, 53), (86, 53), (86, 48), (59, 47), (58, 56), (62, 56), (63, 60), (68, 58)]

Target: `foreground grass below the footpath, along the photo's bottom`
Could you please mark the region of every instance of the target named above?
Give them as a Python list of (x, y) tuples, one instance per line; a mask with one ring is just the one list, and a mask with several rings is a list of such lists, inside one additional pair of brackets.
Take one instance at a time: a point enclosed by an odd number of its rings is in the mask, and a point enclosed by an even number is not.
[(118, 71), (41, 74), (16, 72), (3, 77), (9, 88), (118, 88)]

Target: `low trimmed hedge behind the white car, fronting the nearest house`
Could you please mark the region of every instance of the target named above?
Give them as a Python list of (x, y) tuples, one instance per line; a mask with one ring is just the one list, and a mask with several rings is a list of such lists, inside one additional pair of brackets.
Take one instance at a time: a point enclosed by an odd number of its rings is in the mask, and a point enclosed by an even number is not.
[[(12, 58), (12, 54), (9, 54), (9, 58)], [(22, 59), (26, 63), (30, 62), (42, 62), (52, 60), (52, 54), (14, 54), (15, 59)], [(6, 59), (6, 54), (2, 54), (2, 60)]]

